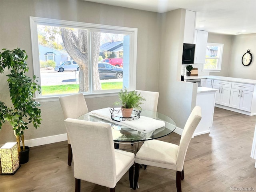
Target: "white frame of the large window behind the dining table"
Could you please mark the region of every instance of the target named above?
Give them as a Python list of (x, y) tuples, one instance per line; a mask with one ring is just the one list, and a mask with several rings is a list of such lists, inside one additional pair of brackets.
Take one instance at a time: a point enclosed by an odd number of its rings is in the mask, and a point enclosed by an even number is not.
[[(40, 63), (39, 63), (39, 49), (38, 49), (38, 32), (37, 25), (54, 25), (59, 27), (76, 27), (76, 28), (84, 28), (92, 30), (93, 32), (112, 32), (112, 33), (120, 33), (127, 34), (130, 36), (130, 63), (129, 63), (129, 77), (128, 77), (128, 91), (136, 89), (136, 61), (137, 61), (137, 37), (138, 37), (138, 29), (137, 28), (128, 28), (128, 27), (120, 27), (120, 26), (109, 26), (102, 24), (91, 24), (91, 23), (83, 23), (83, 22), (74, 22), (74, 21), (66, 21), (66, 20), (56, 20), (50, 18), (38, 18), (38, 17), (30, 17), (30, 31), (31, 31), (31, 41), (32, 41), (32, 56), (33, 56), (33, 67), (34, 67), (34, 75), (38, 77), (38, 84), (41, 85), (40, 81)], [(90, 66), (89, 66), (90, 70)], [(89, 74), (91, 76), (91, 74)], [(90, 92), (84, 93), (86, 98), (92, 97), (102, 97), (102, 96), (113, 96), (117, 95), (119, 90), (99, 90), (94, 91), (92, 89), (92, 84), (90, 85)], [(35, 94), (36, 101), (54, 101), (58, 100), (58, 98), (62, 95), (52, 95), (52, 96), (42, 96), (39, 92)]]

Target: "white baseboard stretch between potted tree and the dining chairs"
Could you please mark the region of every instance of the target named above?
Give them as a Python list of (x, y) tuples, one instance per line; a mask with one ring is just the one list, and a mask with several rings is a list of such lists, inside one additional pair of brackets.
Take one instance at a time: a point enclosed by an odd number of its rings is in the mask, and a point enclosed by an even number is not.
[(48, 137), (25, 140), (25, 144), (26, 146), (34, 147), (34, 146), (66, 141), (66, 140), (68, 140), (68, 138), (67, 138), (67, 134), (65, 133), (60, 135), (53, 135)]

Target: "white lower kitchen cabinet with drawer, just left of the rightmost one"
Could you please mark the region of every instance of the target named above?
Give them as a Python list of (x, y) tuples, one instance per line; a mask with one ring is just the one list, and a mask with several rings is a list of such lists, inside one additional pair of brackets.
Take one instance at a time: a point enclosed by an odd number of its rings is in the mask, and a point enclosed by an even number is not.
[(213, 88), (218, 89), (216, 92), (215, 104), (229, 106), (231, 82), (214, 80)]

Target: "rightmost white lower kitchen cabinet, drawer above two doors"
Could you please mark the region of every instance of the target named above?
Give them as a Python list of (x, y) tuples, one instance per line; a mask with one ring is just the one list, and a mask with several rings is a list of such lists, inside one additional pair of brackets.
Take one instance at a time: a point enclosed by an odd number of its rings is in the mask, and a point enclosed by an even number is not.
[(251, 111), (254, 85), (244, 83), (232, 83), (229, 106), (232, 108)]

